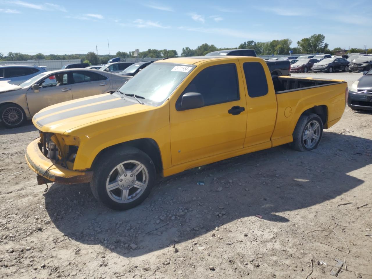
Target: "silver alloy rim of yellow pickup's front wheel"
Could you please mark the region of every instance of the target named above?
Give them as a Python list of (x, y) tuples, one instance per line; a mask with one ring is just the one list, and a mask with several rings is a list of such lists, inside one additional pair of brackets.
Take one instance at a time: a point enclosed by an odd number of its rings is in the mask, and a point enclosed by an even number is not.
[(132, 202), (148, 185), (148, 171), (144, 164), (130, 160), (118, 164), (106, 180), (106, 191), (115, 202)]

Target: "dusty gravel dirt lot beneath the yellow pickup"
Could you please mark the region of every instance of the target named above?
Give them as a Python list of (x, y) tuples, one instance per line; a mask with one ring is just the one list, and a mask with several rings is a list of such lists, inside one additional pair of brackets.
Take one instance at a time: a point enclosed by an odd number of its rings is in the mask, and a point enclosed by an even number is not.
[[(360, 74), (293, 76), (350, 86)], [(308, 278), (334, 278), (334, 259), (346, 260), (339, 278), (372, 278), (371, 121), (346, 108), (314, 151), (284, 145), (185, 171), (125, 212), (87, 184), (44, 193), (24, 159), (38, 132), (1, 128), (0, 278), (305, 279), (310, 260)]]

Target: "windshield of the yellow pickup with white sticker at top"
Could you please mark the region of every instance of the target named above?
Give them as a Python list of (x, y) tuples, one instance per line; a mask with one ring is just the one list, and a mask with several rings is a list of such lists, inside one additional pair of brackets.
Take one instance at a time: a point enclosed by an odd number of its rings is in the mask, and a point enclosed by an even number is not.
[(194, 65), (153, 63), (128, 80), (119, 91), (144, 97), (144, 102), (161, 105), (193, 68)]

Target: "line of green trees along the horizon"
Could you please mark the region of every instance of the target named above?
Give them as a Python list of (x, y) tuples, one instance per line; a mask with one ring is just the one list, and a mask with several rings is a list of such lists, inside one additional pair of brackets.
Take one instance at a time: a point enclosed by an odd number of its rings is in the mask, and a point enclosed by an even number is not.
[[(203, 56), (212, 51), (219, 51), (224, 49), (254, 49), (257, 55), (283, 55), (288, 54), (292, 51), (292, 54), (301, 53), (325, 53), (325, 54), (336, 54), (341, 51), (340, 47), (330, 50), (328, 44), (325, 42), (325, 36), (323, 34), (314, 34), (308, 38), (303, 38), (297, 41), (297, 47), (291, 47), (291, 39), (272, 40), (269, 42), (256, 42), (246, 41), (238, 45), (237, 47), (228, 48), (217, 48), (215, 45), (202, 44), (195, 49), (189, 47), (182, 48), (180, 56)], [(349, 52), (365, 52), (365, 49), (351, 48)], [(372, 49), (369, 49), (367, 53), (372, 53)], [(172, 58), (177, 57), (178, 53), (174, 49), (148, 49), (147, 51), (141, 51), (138, 53), (138, 58)], [(84, 62), (89, 62), (91, 65), (106, 64), (108, 60), (114, 57), (121, 58), (137, 58), (134, 56), (134, 51), (118, 51), (115, 55), (97, 55), (90, 51), (87, 54), (48, 54), (42, 53), (29, 55), (22, 54), (20, 52), (9, 52), (4, 55), (0, 52), (0, 61), (21, 61), (21, 60), (68, 60), (68, 59), (80, 59)]]

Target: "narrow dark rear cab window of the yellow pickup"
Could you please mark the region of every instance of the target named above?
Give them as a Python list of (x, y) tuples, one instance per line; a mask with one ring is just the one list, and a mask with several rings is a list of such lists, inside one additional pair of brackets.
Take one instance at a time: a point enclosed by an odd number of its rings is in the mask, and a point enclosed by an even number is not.
[(260, 62), (245, 62), (243, 64), (246, 77), (248, 96), (251, 98), (265, 96), (269, 91), (265, 71)]

